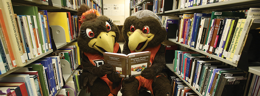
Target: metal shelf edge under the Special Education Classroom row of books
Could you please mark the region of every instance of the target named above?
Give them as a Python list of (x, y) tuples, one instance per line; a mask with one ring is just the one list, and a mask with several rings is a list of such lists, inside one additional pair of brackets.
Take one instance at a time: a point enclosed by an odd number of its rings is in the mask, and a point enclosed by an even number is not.
[[(47, 54), (50, 54), (51, 52), (53, 52), (53, 50), (49, 50), (49, 51), (45, 52), (44, 54), (38, 55), (37, 57), (35, 57), (35, 58), (29, 60), (28, 62), (26, 62), (26, 65), (28, 65), (28, 64), (30, 64), (30, 63), (32, 63), (32, 62), (34, 62), (34, 61), (36, 61), (36, 60), (38, 60), (38, 59), (44, 57), (44, 56), (46, 56)], [(24, 65), (24, 66), (26, 66), (26, 65)], [(16, 67), (16, 68), (11, 69), (11, 70), (7, 71), (6, 73), (1, 74), (1, 75), (0, 75), (0, 78), (4, 77), (4, 76), (6, 76), (6, 75), (8, 75), (8, 74), (10, 74), (10, 73), (12, 73), (12, 72), (15, 72), (16, 70), (18, 70), (18, 69), (20, 69), (20, 68), (23, 68), (24, 66), (22, 66), (22, 67)]]

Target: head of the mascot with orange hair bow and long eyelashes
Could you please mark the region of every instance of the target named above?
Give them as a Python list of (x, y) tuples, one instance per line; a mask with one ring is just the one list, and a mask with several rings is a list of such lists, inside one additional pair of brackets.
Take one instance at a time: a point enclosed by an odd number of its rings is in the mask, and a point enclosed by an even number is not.
[(82, 23), (78, 38), (80, 50), (87, 53), (113, 53), (114, 43), (120, 35), (117, 25), (86, 5), (81, 5), (77, 14)]

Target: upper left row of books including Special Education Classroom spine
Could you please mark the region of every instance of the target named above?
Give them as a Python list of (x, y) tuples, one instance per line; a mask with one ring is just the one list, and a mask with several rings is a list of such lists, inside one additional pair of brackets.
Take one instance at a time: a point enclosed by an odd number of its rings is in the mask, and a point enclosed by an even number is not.
[(1, 56), (6, 70), (1, 70), (1, 74), (14, 67), (24, 66), (27, 61), (52, 49), (46, 10), (38, 11), (37, 7), (29, 6), (12, 6), (10, 0), (2, 2)]

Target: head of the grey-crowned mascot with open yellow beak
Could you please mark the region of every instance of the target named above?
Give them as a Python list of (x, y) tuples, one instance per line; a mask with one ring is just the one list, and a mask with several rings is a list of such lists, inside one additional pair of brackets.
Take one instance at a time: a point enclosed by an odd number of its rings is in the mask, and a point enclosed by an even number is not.
[(142, 10), (126, 18), (122, 34), (130, 50), (141, 52), (147, 47), (161, 44), (167, 32), (155, 13)]

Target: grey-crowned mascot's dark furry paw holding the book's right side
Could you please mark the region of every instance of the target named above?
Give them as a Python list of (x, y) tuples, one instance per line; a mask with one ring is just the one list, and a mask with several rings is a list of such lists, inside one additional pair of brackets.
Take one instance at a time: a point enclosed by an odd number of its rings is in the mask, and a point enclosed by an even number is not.
[[(145, 79), (154, 79), (155, 71), (154, 71), (154, 69), (152, 69), (152, 68), (144, 69), (144, 70), (141, 72), (141, 76), (144, 77)], [(156, 76), (155, 76), (155, 77), (156, 77)]]

